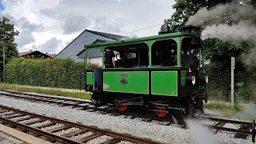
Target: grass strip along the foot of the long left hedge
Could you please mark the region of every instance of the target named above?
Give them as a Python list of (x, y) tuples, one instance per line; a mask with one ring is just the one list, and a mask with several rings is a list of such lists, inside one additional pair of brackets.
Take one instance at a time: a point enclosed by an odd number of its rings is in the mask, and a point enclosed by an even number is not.
[(18, 92), (34, 92), (38, 94), (59, 95), (59, 96), (70, 97), (70, 98), (90, 99), (90, 94), (87, 94), (85, 92), (77, 92), (78, 90), (74, 90), (72, 92), (56, 90), (56, 89), (46, 90), (46, 89), (40, 89), (38, 87), (17, 86), (17, 85), (11, 85), (7, 83), (0, 83), (0, 90), (14, 90)]

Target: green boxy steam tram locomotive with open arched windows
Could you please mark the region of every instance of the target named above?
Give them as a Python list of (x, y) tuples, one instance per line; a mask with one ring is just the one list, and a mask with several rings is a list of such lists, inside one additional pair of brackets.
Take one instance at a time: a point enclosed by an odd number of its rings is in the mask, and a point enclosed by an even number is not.
[(121, 111), (142, 106), (158, 117), (203, 111), (208, 77), (200, 36), (194, 26), (171, 32), (163, 25), (155, 36), (86, 45), (102, 55), (114, 50), (116, 67), (86, 70), (85, 89), (95, 105), (113, 103)]

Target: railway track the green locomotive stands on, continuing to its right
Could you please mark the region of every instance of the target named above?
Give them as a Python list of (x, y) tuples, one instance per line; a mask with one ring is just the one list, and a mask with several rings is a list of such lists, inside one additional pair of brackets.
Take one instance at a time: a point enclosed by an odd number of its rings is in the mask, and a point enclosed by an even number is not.
[[(89, 111), (100, 111), (102, 114), (112, 114), (114, 116), (118, 115), (126, 115), (126, 118), (144, 118), (143, 121), (151, 122), (151, 121), (158, 121), (161, 125), (170, 125), (174, 123), (173, 118), (152, 118), (152, 116), (147, 114), (134, 114), (134, 113), (122, 113), (118, 110), (113, 109), (113, 106), (105, 106), (104, 108), (95, 107), (93, 106), (92, 102), (86, 101), (79, 101), (69, 98), (56, 98), (56, 97), (49, 97), (43, 96), (39, 94), (24, 94), (13, 92), (9, 90), (1, 90), (0, 95), (3, 95), (8, 98), (18, 98), (29, 100), (32, 102), (46, 102), (46, 103), (54, 103), (58, 106), (72, 106), (73, 108), (80, 108), (82, 110), (89, 110)], [(213, 118), (210, 116), (198, 116), (199, 119), (208, 119), (210, 121), (214, 121), (214, 125), (205, 125), (208, 126), (212, 130), (216, 130), (216, 134), (219, 130), (233, 132), (235, 133), (235, 138), (244, 138), (246, 139), (249, 135), (252, 137), (252, 141), (255, 142), (255, 122), (240, 122), (222, 118)], [(183, 123), (183, 122), (179, 122)], [(227, 123), (238, 125), (238, 129), (225, 127)]]

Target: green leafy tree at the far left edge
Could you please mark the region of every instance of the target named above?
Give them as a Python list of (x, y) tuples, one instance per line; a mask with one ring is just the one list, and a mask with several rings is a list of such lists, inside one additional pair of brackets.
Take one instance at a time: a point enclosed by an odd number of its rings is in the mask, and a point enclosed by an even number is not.
[(0, 18), (0, 70), (3, 69), (2, 51), (5, 48), (6, 62), (12, 57), (18, 57), (17, 44), (14, 42), (18, 36), (18, 30), (14, 30), (14, 24), (10, 24), (9, 19)]

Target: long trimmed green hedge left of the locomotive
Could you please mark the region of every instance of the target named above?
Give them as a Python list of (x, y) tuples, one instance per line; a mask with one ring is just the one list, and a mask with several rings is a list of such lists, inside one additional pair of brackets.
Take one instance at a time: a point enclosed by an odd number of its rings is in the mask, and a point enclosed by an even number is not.
[(66, 59), (13, 58), (6, 64), (6, 82), (28, 86), (83, 89), (84, 68), (96, 64), (74, 62)]

